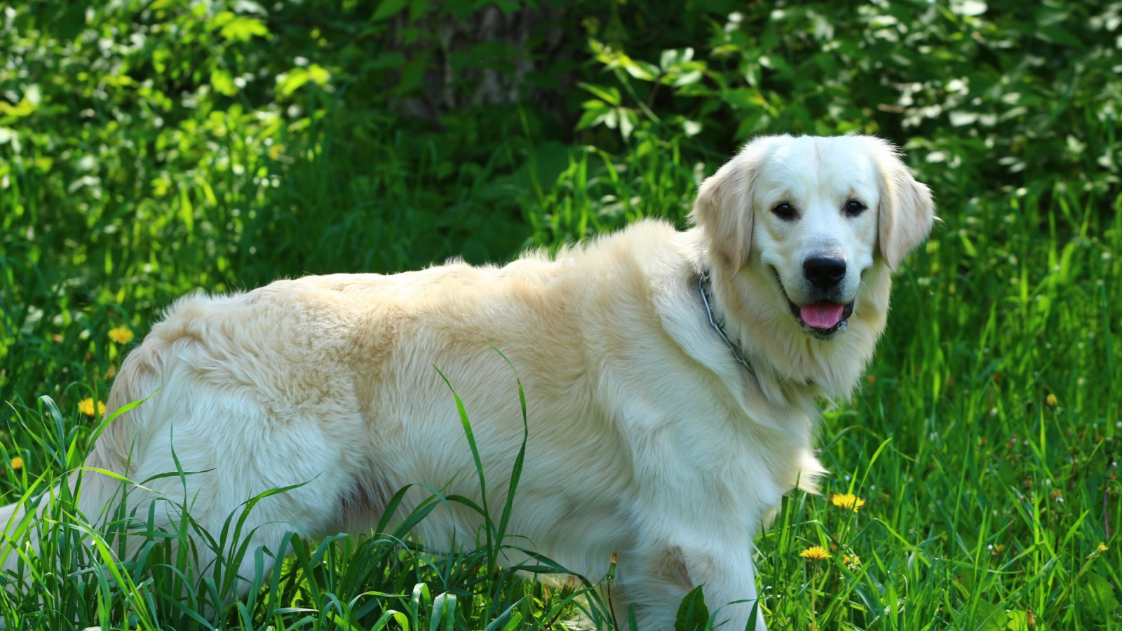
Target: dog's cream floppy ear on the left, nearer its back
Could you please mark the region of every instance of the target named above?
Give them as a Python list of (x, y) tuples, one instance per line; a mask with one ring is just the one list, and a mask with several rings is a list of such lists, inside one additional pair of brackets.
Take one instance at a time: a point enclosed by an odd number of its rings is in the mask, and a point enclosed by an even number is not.
[(707, 177), (698, 189), (690, 219), (705, 230), (709, 246), (739, 269), (752, 249), (752, 185), (766, 139), (755, 140)]

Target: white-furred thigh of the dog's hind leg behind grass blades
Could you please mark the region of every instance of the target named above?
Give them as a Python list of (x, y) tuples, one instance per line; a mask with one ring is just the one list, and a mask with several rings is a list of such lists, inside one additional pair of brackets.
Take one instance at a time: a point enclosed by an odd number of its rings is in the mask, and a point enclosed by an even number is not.
[(243, 591), (275, 563), (265, 555), (256, 567), (256, 549), (275, 552), (286, 532), (337, 532), (340, 496), (353, 472), (320, 419), (279, 415), (251, 392), (186, 376), (148, 404), (153, 422), (129, 476), (144, 487), (134, 491), (134, 505), (147, 515), (157, 502), (157, 528), (175, 528), (190, 515), (186, 531), (202, 573), (213, 573), (221, 555)]

